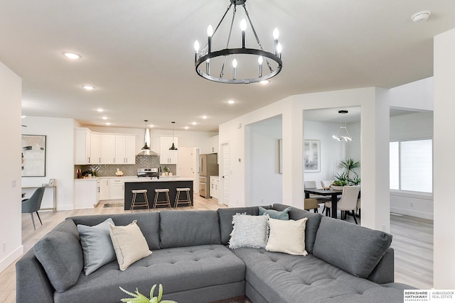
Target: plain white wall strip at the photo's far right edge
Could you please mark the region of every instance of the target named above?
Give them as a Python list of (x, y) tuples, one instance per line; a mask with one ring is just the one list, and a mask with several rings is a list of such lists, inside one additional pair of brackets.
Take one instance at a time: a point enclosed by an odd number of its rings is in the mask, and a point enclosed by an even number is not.
[(434, 38), (434, 288), (455, 289), (455, 29)]

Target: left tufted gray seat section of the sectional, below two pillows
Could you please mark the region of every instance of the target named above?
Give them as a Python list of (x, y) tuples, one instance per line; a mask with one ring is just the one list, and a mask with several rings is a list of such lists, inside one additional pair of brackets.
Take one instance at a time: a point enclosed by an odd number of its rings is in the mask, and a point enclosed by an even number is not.
[[(126, 290), (149, 294), (154, 284), (164, 287), (164, 299), (208, 302), (245, 294), (245, 263), (222, 245), (166, 248), (131, 265), (124, 272), (117, 261), (91, 275), (81, 273), (74, 287), (55, 293), (55, 302), (120, 302)], [(200, 291), (204, 290), (204, 291)], [(95, 299), (95, 301), (93, 301)]]

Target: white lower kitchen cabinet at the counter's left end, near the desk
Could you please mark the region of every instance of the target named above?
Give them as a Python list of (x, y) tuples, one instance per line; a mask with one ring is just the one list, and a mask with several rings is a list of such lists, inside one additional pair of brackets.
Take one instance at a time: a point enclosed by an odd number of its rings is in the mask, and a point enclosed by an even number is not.
[(91, 209), (98, 203), (98, 180), (80, 179), (74, 184), (74, 208)]

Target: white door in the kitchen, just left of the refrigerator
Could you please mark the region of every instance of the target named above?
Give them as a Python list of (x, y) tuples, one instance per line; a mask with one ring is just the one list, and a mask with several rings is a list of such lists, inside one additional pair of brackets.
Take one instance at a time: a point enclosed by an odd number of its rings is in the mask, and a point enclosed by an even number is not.
[(199, 192), (199, 176), (198, 176), (198, 148), (178, 148), (178, 171), (179, 177), (193, 178), (193, 191)]

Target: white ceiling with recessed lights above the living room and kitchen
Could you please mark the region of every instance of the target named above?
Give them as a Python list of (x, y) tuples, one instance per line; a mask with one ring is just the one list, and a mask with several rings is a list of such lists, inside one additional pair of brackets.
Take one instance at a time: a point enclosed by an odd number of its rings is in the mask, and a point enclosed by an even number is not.
[[(228, 4), (0, 0), (0, 62), (23, 79), (28, 116), (86, 126), (102, 126), (107, 116), (112, 126), (133, 128), (144, 119), (156, 128), (176, 121), (176, 129), (218, 131), (218, 124), (289, 95), (431, 77), (433, 37), (455, 28), (454, 0), (248, 0), (266, 50), (279, 28), (283, 70), (267, 86), (219, 84), (196, 75), (193, 43), (206, 39), (208, 24), (215, 26)], [(422, 10), (432, 11), (429, 21), (413, 23), (410, 16)], [(70, 61), (65, 51), (82, 59)]]

